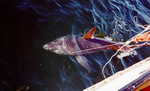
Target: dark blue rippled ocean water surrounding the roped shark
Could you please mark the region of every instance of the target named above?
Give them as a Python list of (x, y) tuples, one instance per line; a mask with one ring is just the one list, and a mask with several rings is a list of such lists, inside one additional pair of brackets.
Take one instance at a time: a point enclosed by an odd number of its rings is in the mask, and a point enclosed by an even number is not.
[[(0, 91), (82, 91), (104, 79), (101, 69), (115, 52), (85, 56), (93, 66), (87, 73), (74, 57), (43, 50), (45, 43), (93, 26), (126, 41), (143, 30), (137, 24), (150, 24), (149, 0), (6, 0), (1, 7), (6, 18), (0, 21)], [(139, 48), (138, 55), (122, 61), (114, 57), (106, 76), (150, 56), (149, 51)]]

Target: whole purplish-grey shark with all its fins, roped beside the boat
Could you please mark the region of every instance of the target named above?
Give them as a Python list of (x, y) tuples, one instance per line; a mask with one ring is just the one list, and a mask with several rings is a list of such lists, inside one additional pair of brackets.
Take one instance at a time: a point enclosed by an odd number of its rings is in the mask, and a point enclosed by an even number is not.
[[(103, 50), (117, 51), (119, 49), (120, 51), (125, 52), (131, 48), (137, 47), (136, 45), (123, 46), (124, 42), (115, 42), (105, 38), (99, 38), (95, 36), (95, 33), (96, 27), (93, 27), (83, 36), (66, 35), (46, 43), (43, 48), (59, 55), (75, 56), (78, 63), (87, 69), (88, 72), (91, 72), (92, 67), (85, 55)], [(137, 40), (140, 41), (141, 36), (134, 39), (134, 41)]]

